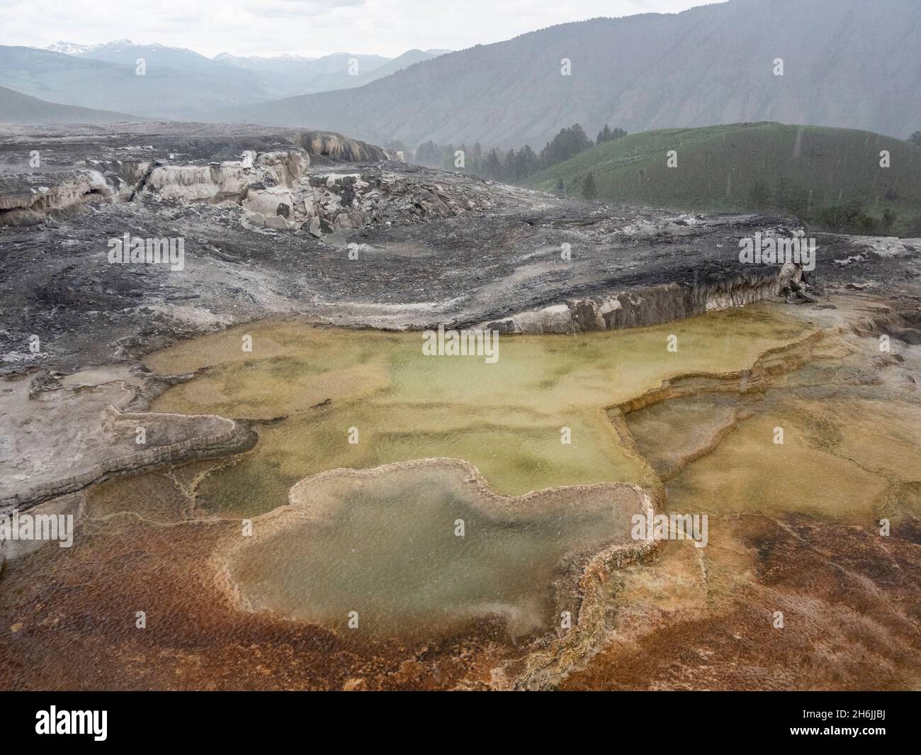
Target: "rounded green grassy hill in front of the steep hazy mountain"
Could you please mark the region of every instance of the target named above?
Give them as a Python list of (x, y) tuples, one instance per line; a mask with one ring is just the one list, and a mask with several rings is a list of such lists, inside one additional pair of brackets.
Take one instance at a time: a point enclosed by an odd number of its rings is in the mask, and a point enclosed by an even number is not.
[[(669, 150), (677, 167), (667, 167)], [(889, 150), (891, 167), (880, 168)], [(921, 148), (868, 131), (775, 123), (663, 129), (581, 152), (523, 183), (686, 210), (799, 216), (827, 230), (921, 235)], [(894, 218), (893, 218), (894, 216)]]

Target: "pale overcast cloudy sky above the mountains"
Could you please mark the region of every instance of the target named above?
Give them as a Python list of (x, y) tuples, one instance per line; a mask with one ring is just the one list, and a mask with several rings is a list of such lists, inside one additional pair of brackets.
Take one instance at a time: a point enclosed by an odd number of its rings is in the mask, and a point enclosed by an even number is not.
[(599, 16), (674, 13), (706, 0), (0, 0), (0, 44), (129, 39), (209, 56), (460, 50)]

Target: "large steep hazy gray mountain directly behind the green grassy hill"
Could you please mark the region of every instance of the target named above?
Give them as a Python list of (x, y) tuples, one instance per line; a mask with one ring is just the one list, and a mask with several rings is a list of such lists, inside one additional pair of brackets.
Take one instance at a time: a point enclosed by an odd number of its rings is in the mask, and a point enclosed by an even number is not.
[(408, 147), (432, 139), (539, 148), (575, 123), (594, 134), (603, 124), (632, 133), (776, 121), (905, 138), (921, 128), (918, 91), (917, 0), (730, 0), (554, 26), (441, 55), (358, 90), (208, 117), (309, 124)]

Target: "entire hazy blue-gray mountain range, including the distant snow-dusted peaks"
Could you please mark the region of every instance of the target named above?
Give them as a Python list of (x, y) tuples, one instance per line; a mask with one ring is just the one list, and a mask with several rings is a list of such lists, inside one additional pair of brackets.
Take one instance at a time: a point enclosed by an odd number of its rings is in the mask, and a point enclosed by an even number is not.
[[(0, 86), (109, 112), (315, 128), (409, 148), (431, 139), (540, 149), (575, 123), (591, 135), (604, 124), (634, 133), (774, 121), (904, 139), (921, 129), (917, 11), (917, 0), (729, 0), (393, 60), (208, 58), (128, 40), (6, 46)], [(145, 77), (135, 76), (139, 57)]]

